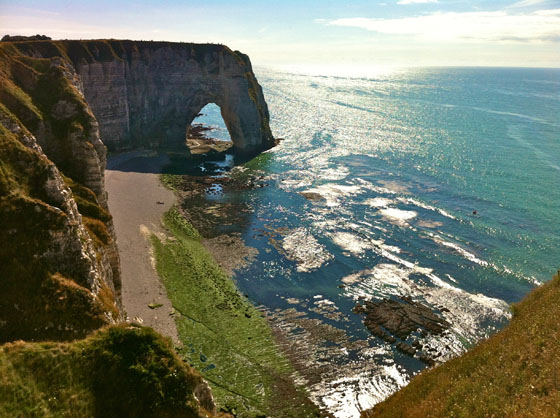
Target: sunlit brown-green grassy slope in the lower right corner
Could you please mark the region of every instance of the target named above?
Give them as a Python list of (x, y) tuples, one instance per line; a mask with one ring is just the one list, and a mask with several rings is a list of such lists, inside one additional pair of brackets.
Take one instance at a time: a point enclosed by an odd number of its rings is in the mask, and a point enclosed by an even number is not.
[(362, 417), (560, 416), (560, 272), (513, 310), (502, 331)]

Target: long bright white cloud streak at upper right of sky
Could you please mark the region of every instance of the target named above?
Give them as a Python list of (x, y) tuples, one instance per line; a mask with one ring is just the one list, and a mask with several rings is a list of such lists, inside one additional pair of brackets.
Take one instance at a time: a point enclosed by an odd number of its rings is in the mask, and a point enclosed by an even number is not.
[(560, 41), (560, 9), (524, 14), (496, 12), (433, 13), (394, 19), (364, 17), (327, 23), (431, 41)]

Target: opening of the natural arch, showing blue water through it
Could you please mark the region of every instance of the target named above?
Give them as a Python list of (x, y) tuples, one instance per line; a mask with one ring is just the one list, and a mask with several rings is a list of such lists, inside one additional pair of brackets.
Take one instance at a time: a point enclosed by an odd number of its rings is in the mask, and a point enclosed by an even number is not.
[(192, 155), (223, 154), (233, 141), (220, 106), (208, 103), (187, 126), (186, 144)]

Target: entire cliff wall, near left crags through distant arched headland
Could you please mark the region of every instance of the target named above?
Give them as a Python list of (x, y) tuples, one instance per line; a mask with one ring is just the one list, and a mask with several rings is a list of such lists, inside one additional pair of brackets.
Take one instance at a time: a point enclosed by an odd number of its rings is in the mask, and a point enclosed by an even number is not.
[(275, 144), (248, 57), (223, 45), (2, 42), (0, 80), (2, 341), (122, 320), (105, 145), (184, 146), (210, 102), (238, 153)]

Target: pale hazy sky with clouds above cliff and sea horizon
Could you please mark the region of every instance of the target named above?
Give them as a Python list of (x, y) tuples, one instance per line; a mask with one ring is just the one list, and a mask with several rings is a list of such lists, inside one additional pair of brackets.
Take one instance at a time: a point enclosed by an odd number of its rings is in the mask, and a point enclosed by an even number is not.
[(0, 0), (0, 35), (218, 42), (254, 65), (560, 67), (560, 0)]

